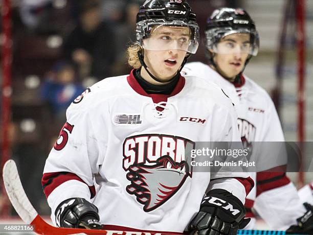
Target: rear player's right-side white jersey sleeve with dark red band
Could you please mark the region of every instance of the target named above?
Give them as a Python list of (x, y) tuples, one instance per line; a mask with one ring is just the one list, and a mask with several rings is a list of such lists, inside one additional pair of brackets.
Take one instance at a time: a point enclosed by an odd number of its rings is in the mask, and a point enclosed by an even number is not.
[[(297, 223), (296, 219), (303, 216), (305, 208), (300, 201), (295, 185), (282, 170), (286, 160), (281, 154), (284, 142), (283, 131), (273, 102), (270, 102), (269, 113), (266, 116), (266, 128), (263, 128), (262, 144), (271, 142), (269, 154), (263, 153), (260, 160), (266, 160), (266, 155), (275, 156), (277, 152), (277, 166), (270, 170), (257, 172), (257, 194), (254, 208), (261, 218), (273, 229), (287, 229)], [(267, 143), (266, 143), (267, 142)], [(264, 148), (266, 149), (266, 148)], [(269, 160), (270, 161), (270, 160)], [(272, 161), (273, 162), (273, 161)], [(275, 171), (275, 169), (278, 169)]]

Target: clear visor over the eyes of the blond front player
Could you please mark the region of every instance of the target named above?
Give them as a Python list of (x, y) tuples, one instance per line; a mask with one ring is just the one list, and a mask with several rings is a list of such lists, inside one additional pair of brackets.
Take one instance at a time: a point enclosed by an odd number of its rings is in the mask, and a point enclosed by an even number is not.
[(142, 47), (149, 51), (180, 50), (195, 54), (198, 49), (199, 29), (196, 25), (162, 23), (150, 25), (149, 36), (142, 39)]

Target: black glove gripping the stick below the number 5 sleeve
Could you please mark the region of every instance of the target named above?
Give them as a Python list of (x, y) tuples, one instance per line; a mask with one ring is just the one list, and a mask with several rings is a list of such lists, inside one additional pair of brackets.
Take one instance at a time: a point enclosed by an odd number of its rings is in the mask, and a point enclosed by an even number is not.
[(58, 227), (101, 229), (98, 208), (83, 198), (70, 198), (55, 210)]

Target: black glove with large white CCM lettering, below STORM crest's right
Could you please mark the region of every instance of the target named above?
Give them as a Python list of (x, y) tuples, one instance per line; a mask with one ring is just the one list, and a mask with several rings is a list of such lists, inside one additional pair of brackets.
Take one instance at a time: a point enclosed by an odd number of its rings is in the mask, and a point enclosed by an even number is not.
[(242, 202), (226, 190), (215, 189), (202, 200), (198, 214), (188, 226), (189, 234), (237, 234), (250, 219), (244, 219)]

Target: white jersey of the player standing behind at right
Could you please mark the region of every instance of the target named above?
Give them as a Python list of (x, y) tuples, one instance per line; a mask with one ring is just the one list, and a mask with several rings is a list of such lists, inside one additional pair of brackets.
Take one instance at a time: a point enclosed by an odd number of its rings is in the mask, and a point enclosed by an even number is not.
[[(182, 75), (187, 78), (196, 76), (214, 82), (225, 91), (235, 104), (239, 134), (245, 145), (249, 146), (252, 142), (284, 142), (279, 117), (270, 96), (247, 76), (241, 77), (240, 85), (234, 85), (221, 77), (209, 65), (201, 62), (187, 63), (182, 70)], [(253, 151), (266, 150), (253, 149)], [(267, 149), (267, 151), (273, 151), (273, 149)], [(266, 154), (262, 154), (262, 157), (265, 156)], [(263, 164), (270, 162), (269, 159), (258, 159), (258, 162), (262, 160)], [(246, 216), (254, 217), (251, 210), (253, 207), (273, 229), (286, 229), (296, 224), (296, 219), (303, 216), (305, 208), (294, 184), (282, 172), (251, 174), (256, 187), (247, 196)], [(253, 218), (246, 228), (252, 229), (254, 225), (255, 219)]]

